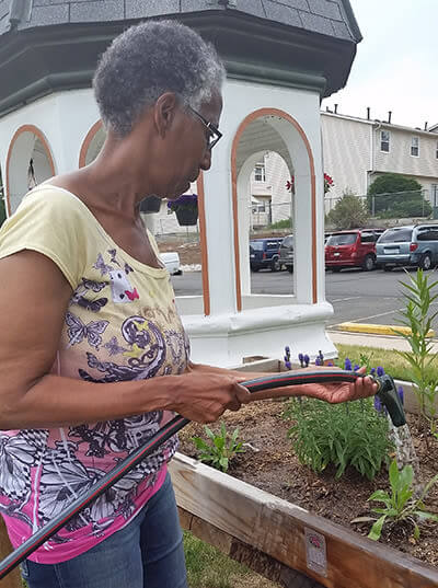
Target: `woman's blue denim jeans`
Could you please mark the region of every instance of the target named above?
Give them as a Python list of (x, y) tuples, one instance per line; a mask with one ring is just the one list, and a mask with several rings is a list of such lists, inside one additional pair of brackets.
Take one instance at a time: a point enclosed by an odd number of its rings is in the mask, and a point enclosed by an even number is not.
[(28, 588), (187, 588), (171, 477), (124, 529), (60, 564), (22, 563)]

